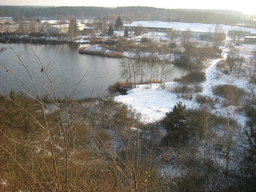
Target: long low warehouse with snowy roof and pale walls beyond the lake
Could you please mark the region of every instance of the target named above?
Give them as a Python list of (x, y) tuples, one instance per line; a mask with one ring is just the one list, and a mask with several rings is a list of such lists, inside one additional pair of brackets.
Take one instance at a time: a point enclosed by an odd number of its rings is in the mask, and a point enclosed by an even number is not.
[(221, 28), (218, 33), (222, 33), (223, 39), (226, 39), (230, 25), (203, 24), (203, 23), (182, 23), (182, 22), (161, 22), (161, 21), (135, 21), (132, 24), (124, 24), (125, 27), (142, 27), (149, 31), (171, 32), (172, 30), (180, 32), (190, 29), (194, 38), (200, 38), (203, 35), (214, 34), (215, 29)]

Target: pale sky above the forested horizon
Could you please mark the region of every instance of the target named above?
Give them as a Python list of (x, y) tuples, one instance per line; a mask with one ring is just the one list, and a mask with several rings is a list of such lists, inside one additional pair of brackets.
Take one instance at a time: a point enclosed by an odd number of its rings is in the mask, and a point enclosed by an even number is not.
[(235, 2), (234, 0), (8, 0), (0, 1), (0, 5), (40, 5), (40, 6), (101, 6), (101, 7), (120, 7), (120, 6), (149, 6), (167, 9), (224, 9), (236, 10), (244, 14), (256, 15), (256, 3)]

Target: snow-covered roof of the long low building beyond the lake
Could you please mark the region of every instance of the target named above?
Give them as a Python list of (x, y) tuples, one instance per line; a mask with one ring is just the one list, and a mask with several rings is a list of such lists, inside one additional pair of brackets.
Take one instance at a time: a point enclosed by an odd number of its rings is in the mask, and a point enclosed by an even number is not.
[[(134, 21), (132, 24), (124, 24), (129, 27), (152, 27), (152, 28), (178, 28), (179, 30), (186, 30), (189, 28), (192, 31), (209, 31), (214, 30), (216, 24), (203, 24), (203, 23), (182, 23), (182, 22), (161, 22), (161, 21)], [(228, 31), (230, 25), (219, 25), (224, 31)]]

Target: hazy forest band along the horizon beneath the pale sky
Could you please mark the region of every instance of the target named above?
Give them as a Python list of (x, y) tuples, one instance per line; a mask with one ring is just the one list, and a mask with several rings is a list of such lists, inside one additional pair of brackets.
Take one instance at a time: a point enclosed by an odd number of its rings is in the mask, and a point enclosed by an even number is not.
[[(189, 10), (165, 9), (146, 6), (128, 6), (116, 8), (86, 6), (0, 6), (0, 17), (13, 17), (16, 20), (56, 19), (58, 16), (75, 18), (100, 18), (118, 15), (127, 23), (148, 20), (164, 22), (200, 22), (205, 24), (250, 24), (253, 18), (246, 18), (242, 12), (229, 10)], [(248, 17), (248, 16), (247, 16)]]

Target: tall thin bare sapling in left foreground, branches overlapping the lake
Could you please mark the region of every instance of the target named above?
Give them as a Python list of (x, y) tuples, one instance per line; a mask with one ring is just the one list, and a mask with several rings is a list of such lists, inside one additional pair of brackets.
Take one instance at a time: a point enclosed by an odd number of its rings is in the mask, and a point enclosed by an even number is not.
[[(30, 181), (34, 182), (42, 190), (69, 191), (70, 179), (72, 177), (71, 175), (73, 174), (72, 172), (74, 171), (72, 166), (70, 166), (70, 164), (73, 164), (73, 160), (71, 158), (72, 145), (70, 144), (70, 140), (72, 135), (74, 135), (76, 125), (80, 120), (80, 115), (76, 116), (74, 119), (72, 118), (67, 120), (68, 111), (71, 105), (65, 106), (65, 111), (63, 111), (62, 106), (60, 106), (55, 90), (56, 86), (58, 86), (58, 82), (55, 83), (54, 81), (54, 79), (60, 78), (60, 76), (55, 76), (52, 79), (51, 75), (56, 58), (44, 63), (36, 54), (32, 45), (25, 46), (28, 56), (24, 56), (22, 53), (16, 51), (15, 46), (8, 44), (8, 41), (6, 41), (4, 38), (2, 38), (2, 40), (6, 42), (7, 49), (14, 53), (15, 62), (26, 71), (28, 77), (30, 78), (31, 84), (26, 84), (23, 82), (22, 78), (20, 78), (20, 76), (23, 76), (24, 74), (19, 74), (18, 71), (9, 68), (2, 62), (0, 63), (1, 67), (9, 72), (10, 75), (14, 76), (17, 82), (22, 84), (24, 87), (22, 88), (22, 91), (31, 98), (31, 102), (36, 103), (36, 106), (34, 109), (27, 108), (21, 101), (13, 99), (14, 93), (8, 97), (8, 95), (2, 92), (2, 90), (0, 90), (0, 92), (2, 96), (8, 100), (11, 100), (12, 104), (26, 114), (27, 118), (31, 119), (31, 122), (35, 124), (36, 130), (30, 132), (28, 136), (41, 135), (41, 138), (39, 136), (38, 140), (35, 140), (34, 142), (27, 142), (27, 139), (18, 140), (17, 137), (14, 138), (12, 136), (13, 131), (11, 129), (9, 129), (9, 132), (5, 132), (1, 129), (1, 134), (4, 136), (4, 138), (6, 138), (7, 143), (1, 145), (0, 148), (10, 155), (13, 162), (17, 164), (18, 170), (24, 172), (26, 177), (30, 178)], [(35, 68), (38, 69), (38, 72), (34, 73), (30, 71), (30, 65), (34, 65)], [(81, 79), (78, 79), (78, 84), (80, 82)], [(67, 97), (67, 100), (71, 101), (70, 99), (76, 88), (77, 86), (74, 88), (74, 91), (71, 93), (70, 97)], [(52, 103), (56, 106), (57, 110), (55, 115), (47, 114), (44, 96), (42, 96), (43, 93), (46, 93), (50, 97)], [(72, 102), (70, 102), (70, 104), (71, 103)], [(64, 116), (66, 120), (64, 120)], [(55, 120), (52, 118), (55, 118)], [(56, 124), (53, 122), (56, 122)], [(45, 142), (43, 142), (44, 145), (39, 145), (42, 135), (46, 136)], [(57, 135), (60, 136), (59, 139), (56, 139)], [(12, 150), (8, 146), (8, 142), (11, 142), (14, 144), (14, 146), (25, 148), (25, 151), (30, 151), (30, 155), (32, 156), (32, 162), (29, 163), (31, 164), (31, 169), (28, 168), (28, 165), (23, 163), (24, 159), (22, 157), (18, 158), (18, 156), (16, 156), (17, 150)], [(61, 153), (60, 150), (58, 150), (58, 146), (61, 146)], [(34, 160), (35, 162), (33, 162)], [(40, 173), (35, 173), (36, 170), (40, 171)]]

